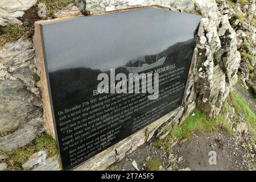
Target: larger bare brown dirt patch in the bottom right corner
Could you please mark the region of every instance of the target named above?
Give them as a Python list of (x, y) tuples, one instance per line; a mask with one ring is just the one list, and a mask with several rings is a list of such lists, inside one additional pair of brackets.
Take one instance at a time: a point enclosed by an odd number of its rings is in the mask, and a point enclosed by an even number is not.
[[(195, 135), (191, 142), (177, 144), (173, 149), (175, 155), (184, 159), (179, 168), (189, 167), (196, 171), (253, 169), (255, 152), (249, 150), (246, 137), (249, 136), (229, 136), (221, 130), (218, 133)], [(209, 164), (209, 158), (212, 156), (208, 155), (210, 151), (216, 152), (216, 164)]]

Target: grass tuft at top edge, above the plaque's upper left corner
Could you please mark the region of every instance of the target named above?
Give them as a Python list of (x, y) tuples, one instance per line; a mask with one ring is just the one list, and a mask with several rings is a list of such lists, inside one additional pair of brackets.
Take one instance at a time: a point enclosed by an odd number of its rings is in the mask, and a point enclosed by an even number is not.
[(38, 3), (45, 3), (47, 9), (47, 17), (51, 17), (57, 11), (67, 7), (73, 0), (39, 0)]

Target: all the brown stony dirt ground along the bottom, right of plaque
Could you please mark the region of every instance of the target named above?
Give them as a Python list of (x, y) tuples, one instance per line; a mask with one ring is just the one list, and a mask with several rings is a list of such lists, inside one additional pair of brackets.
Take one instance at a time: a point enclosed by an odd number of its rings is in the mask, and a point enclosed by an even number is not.
[[(250, 147), (251, 142), (253, 140), (250, 135), (235, 133), (230, 136), (224, 130), (218, 133), (194, 134), (190, 142), (177, 143), (172, 147), (173, 152), (170, 155), (150, 144), (144, 145), (112, 167), (115, 170), (133, 171), (135, 168), (132, 162), (135, 161), (139, 170), (147, 170), (147, 160), (158, 158), (163, 166), (162, 170), (255, 170), (256, 158), (253, 148)], [(216, 164), (209, 164), (210, 151), (216, 152)]]

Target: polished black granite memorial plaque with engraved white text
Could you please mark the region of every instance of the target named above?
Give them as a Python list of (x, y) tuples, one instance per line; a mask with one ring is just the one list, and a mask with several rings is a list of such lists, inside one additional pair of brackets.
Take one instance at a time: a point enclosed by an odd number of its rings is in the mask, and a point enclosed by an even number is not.
[[(181, 105), (200, 19), (146, 8), (40, 24), (63, 169), (77, 166)], [(149, 100), (148, 92), (102, 93), (97, 89), (100, 73), (109, 76), (110, 86), (102, 90), (125, 88), (129, 81), (142, 79), (129, 79), (129, 73), (158, 73), (159, 97)], [(117, 81), (118, 73), (127, 80)]]

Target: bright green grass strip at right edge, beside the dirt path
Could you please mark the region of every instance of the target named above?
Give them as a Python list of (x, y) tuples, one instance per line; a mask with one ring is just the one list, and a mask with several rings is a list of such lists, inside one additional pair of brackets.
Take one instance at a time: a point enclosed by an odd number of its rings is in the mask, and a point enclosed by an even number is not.
[(242, 114), (248, 126), (248, 131), (256, 138), (256, 115), (247, 105), (247, 102), (243, 100), (237, 93), (230, 93), (230, 97), (233, 101), (233, 106), (236, 113)]

